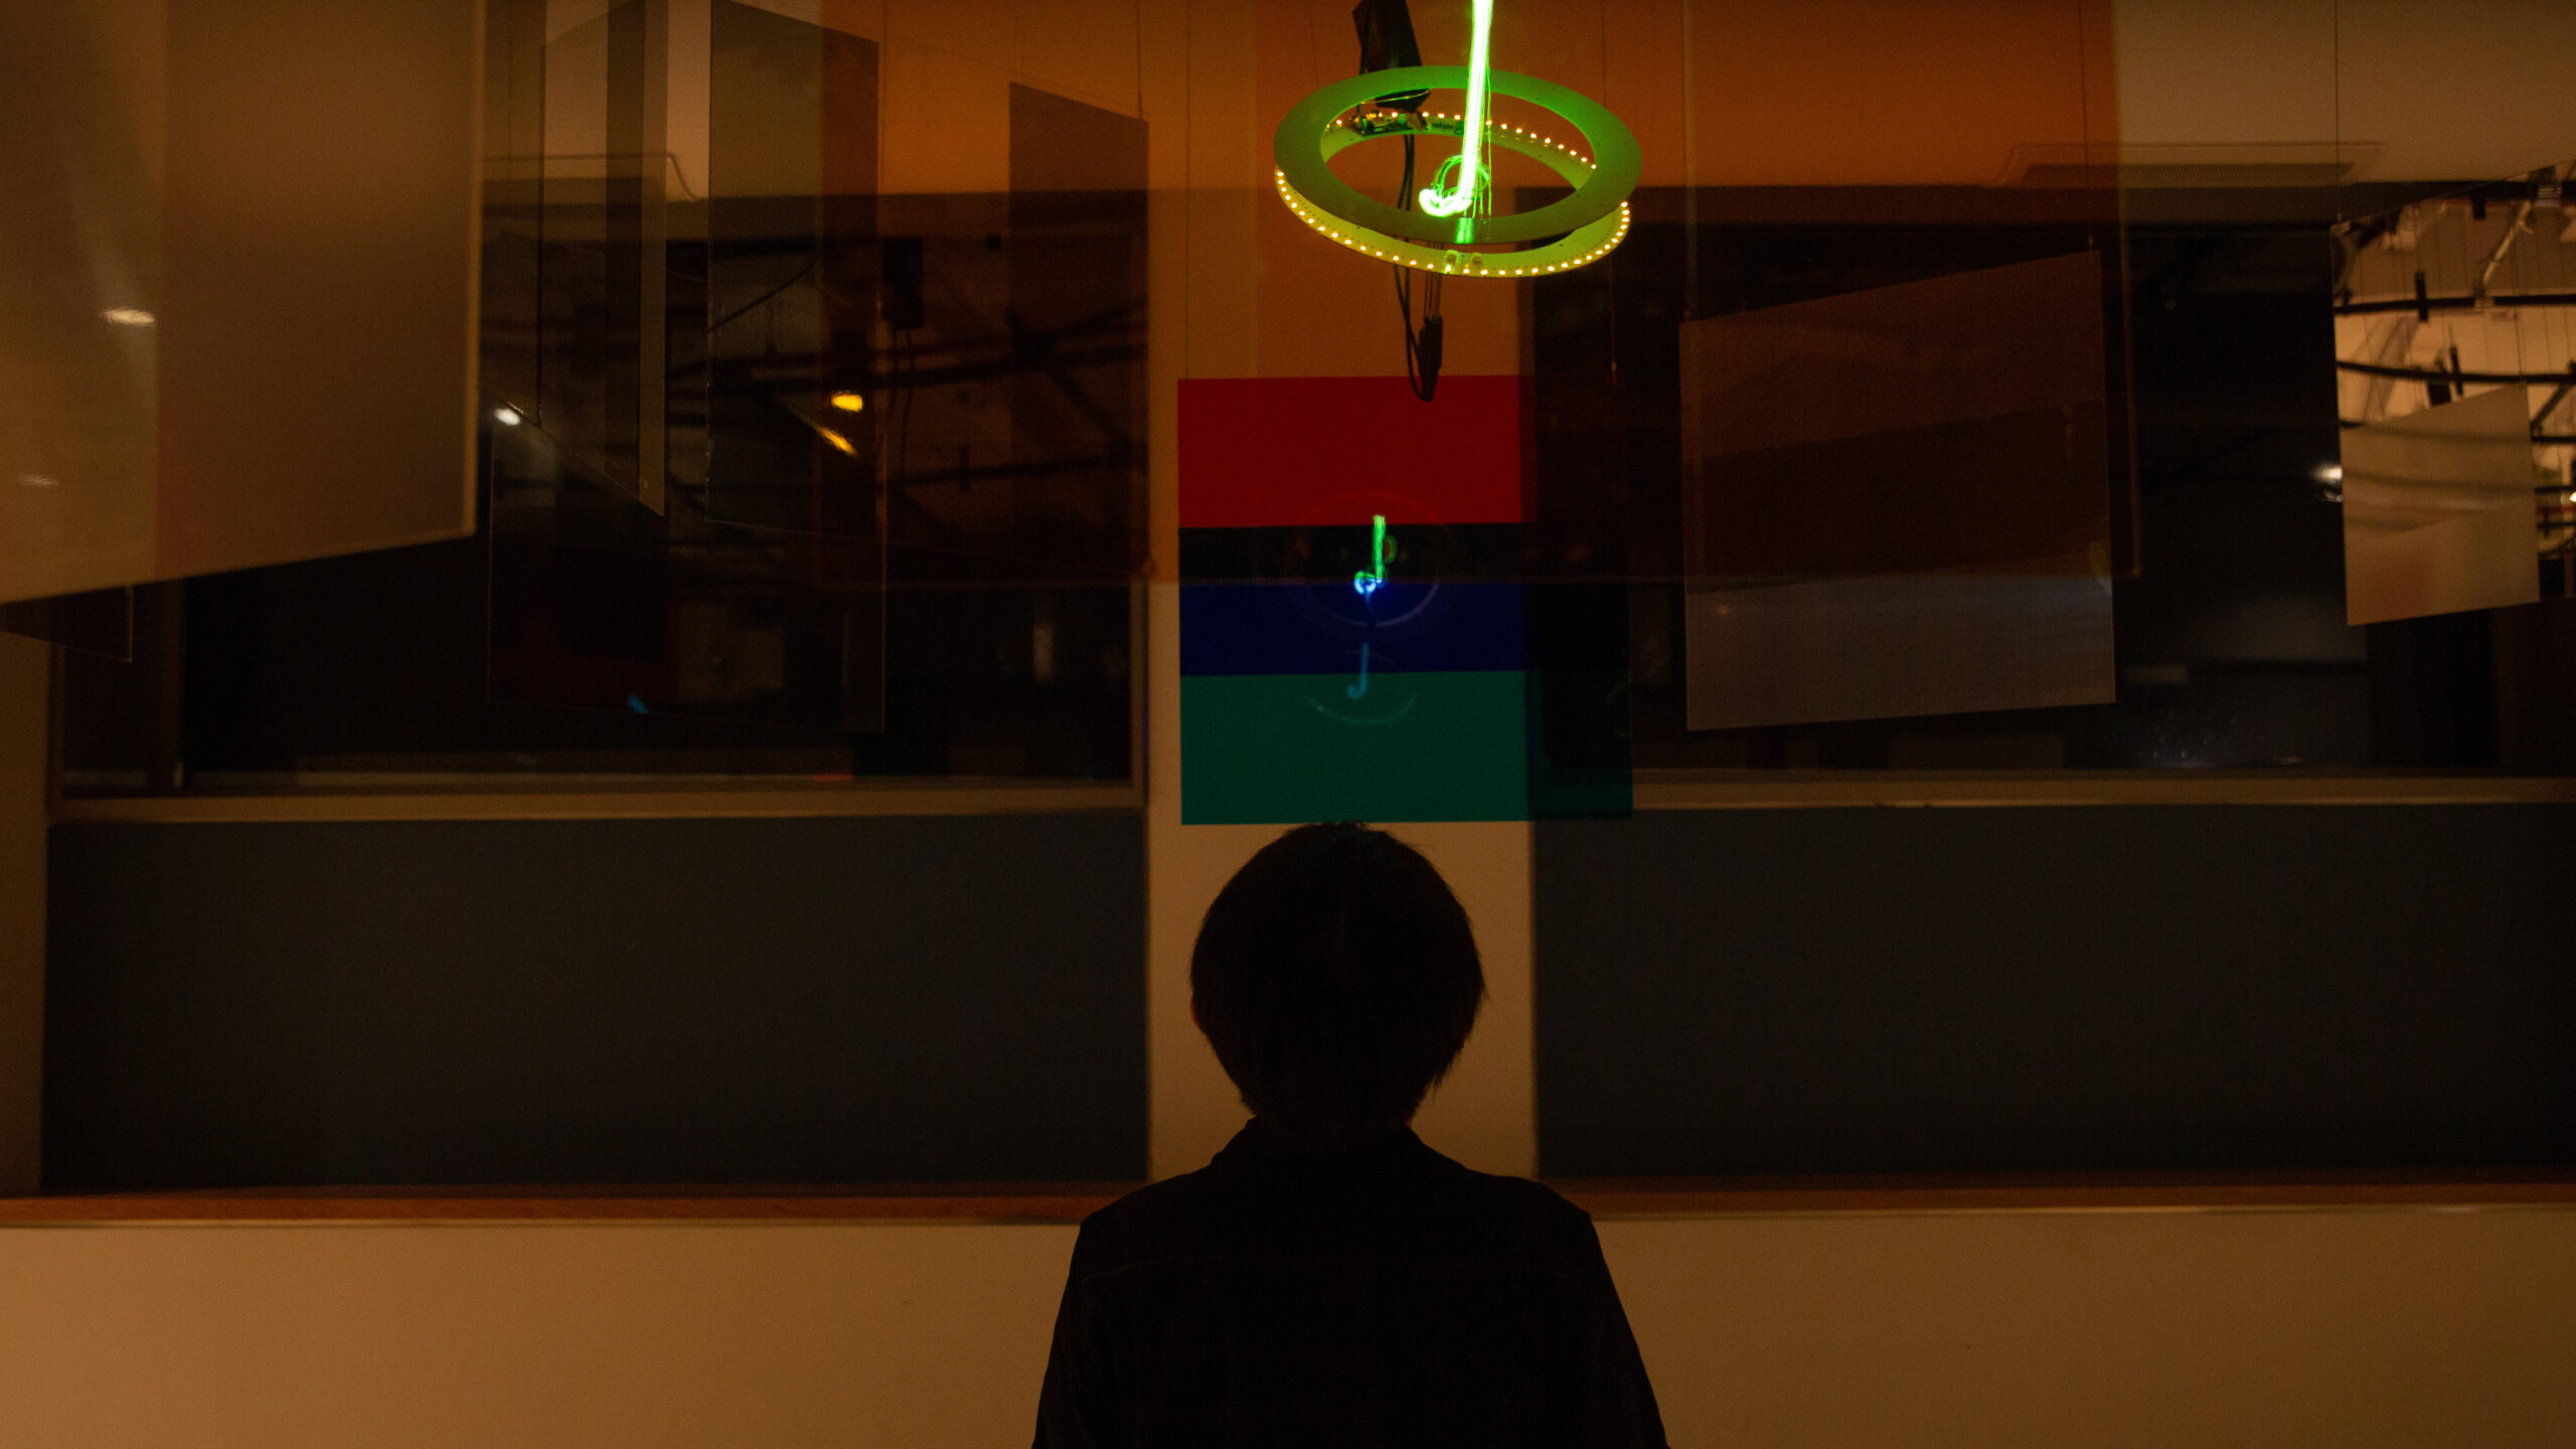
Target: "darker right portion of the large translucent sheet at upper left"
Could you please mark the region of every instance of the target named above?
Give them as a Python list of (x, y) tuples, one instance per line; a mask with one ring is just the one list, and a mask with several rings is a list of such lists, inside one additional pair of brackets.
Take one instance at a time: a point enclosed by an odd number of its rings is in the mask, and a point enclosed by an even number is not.
[(479, 0), (170, 5), (160, 578), (474, 531)]

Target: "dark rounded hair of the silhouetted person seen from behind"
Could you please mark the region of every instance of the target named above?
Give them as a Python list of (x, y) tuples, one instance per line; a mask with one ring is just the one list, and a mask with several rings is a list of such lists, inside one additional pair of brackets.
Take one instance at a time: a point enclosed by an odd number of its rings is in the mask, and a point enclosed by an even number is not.
[(1419, 851), (1368, 825), (1298, 825), (1216, 892), (1190, 1003), (1244, 1106), (1332, 1150), (1412, 1119), (1476, 1026), (1484, 967)]

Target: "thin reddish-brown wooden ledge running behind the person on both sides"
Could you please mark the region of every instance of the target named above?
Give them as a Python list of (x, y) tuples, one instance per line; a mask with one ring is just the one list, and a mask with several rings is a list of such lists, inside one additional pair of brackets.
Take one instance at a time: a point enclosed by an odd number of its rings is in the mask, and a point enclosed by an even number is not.
[[(116, 1222), (1082, 1222), (1141, 1183), (389, 1186), (0, 1199), (0, 1227)], [(1600, 1220), (1837, 1212), (2282, 1212), (2576, 1207), (2548, 1173), (1940, 1173), (1551, 1178)]]

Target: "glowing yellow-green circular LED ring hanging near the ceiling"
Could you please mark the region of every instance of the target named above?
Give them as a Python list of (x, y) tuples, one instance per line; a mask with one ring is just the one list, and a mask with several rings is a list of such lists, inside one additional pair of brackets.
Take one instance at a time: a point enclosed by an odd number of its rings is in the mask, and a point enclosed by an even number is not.
[[(1417, 64), (1337, 80), (1298, 101), (1280, 119), (1270, 147), (1278, 162), (1280, 199), (1309, 227), (1355, 253), (1448, 276), (1543, 276), (1584, 266), (1615, 248), (1628, 235), (1628, 193), (1636, 191), (1643, 168), (1636, 137), (1589, 95), (1538, 80), (1535, 75), (1494, 70), (1486, 72), (1486, 88), (1494, 95), (1515, 95), (1566, 119), (1592, 147), (1592, 160), (1520, 126), (1489, 121), (1486, 144), (1546, 162), (1574, 186), (1574, 196), (1512, 217), (1473, 217), (1471, 242), (1556, 237), (1543, 248), (1517, 253), (1463, 250), (1455, 240), (1458, 222), (1401, 211), (1386, 201), (1363, 196), (1332, 173), (1329, 160), (1342, 150), (1363, 139), (1406, 134), (1399, 129), (1365, 134), (1345, 126), (1342, 116), (1350, 108), (1406, 90), (1458, 90), (1466, 80), (1468, 72), (1461, 64)], [(1455, 116), (1425, 116), (1422, 126), (1412, 134), (1455, 137), (1461, 129), (1463, 124)]]

